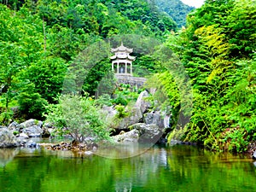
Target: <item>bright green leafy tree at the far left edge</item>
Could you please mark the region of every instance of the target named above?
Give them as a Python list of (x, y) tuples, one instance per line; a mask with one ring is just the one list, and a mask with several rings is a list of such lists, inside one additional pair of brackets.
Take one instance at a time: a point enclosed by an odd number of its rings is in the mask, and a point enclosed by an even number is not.
[[(5, 111), (20, 89), (20, 70), (38, 60), (41, 48), (41, 20), (29, 14), (27, 9), (15, 13), (0, 5), (0, 95), (5, 101)], [(4, 118), (3, 118), (4, 119)]]

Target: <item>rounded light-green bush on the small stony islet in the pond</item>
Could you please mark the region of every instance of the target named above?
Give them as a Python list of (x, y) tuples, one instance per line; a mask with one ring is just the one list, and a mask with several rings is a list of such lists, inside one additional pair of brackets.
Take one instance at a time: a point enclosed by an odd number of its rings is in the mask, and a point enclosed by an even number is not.
[(49, 105), (47, 121), (54, 123), (60, 134), (70, 134), (79, 143), (93, 137), (109, 139), (108, 125), (90, 97), (62, 95), (58, 104)]

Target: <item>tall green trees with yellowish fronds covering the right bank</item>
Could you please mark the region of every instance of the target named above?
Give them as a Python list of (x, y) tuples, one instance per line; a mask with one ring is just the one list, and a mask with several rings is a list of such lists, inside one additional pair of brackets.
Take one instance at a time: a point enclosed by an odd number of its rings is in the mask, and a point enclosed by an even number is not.
[(254, 10), (251, 1), (206, 1), (189, 15), (187, 29), (167, 39), (193, 85), (187, 140), (237, 152), (255, 140), (255, 44), (248, 41)]

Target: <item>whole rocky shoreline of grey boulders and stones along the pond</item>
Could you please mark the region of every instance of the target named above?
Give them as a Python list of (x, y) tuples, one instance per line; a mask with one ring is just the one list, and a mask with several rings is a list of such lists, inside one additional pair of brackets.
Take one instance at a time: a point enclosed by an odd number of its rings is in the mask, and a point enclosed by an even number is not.
[[(113, 135), (113, 143), (161, 143), (166, 144), (166, 129), (170, 124), (171, 114), (166, 114), (160, 110), (150, 109), (150, 103), (144, 99), (148, 92), (143, 91), (137, 102), (131, 108), (131, 115), (122, 119), (116, 119), (118, 124), (113, 124), (113, 129), (117, 135)], [(114, 119), (118, 113), (115, 108), (104, 107), (104, 112), (108, 113), (109, 119)], [(115, 122), (114, 122), (115, 123)], [(96, 150), (96, 143), (58, 143), (58, 144), (38, 144), (33, 137), (48, 138), (55, 131), (55, 127), (37, 119), (28, 119), (18, 124), (12, 122), (9, 126), (0, 126), (0, 148), (38, 148), (38, 146), (49, 150), (74, 150), (86, 151)], [(195, 145), (195, 143), (184, 143), (183, 141), (172, 140), (171, 145), (185, 144)], [(256, 142), (250, 143), (247, 154), (256, 160)]]

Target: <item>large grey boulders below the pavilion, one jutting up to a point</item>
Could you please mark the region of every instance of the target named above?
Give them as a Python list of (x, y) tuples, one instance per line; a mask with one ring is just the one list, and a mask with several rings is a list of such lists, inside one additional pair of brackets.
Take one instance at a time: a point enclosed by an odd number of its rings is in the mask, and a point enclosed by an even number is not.
[[(144, 90), (131, 108), (131, 115), (120, 119), (115, 125), (114, 128), (120, 131), (119, 135), (113, 137), (115, 142), (157, 143), (163, 139), (164, 131), (169, 127), (170, 115), (162, 115), (160, 110), (148, 112), (148, 109), (151, 108), (150, 102), (146, 100), (148, 96), (148, 91)], [(105, 108), (105, 110), (108, 111), (110, 118), (117, 113), (111, 107)]]

